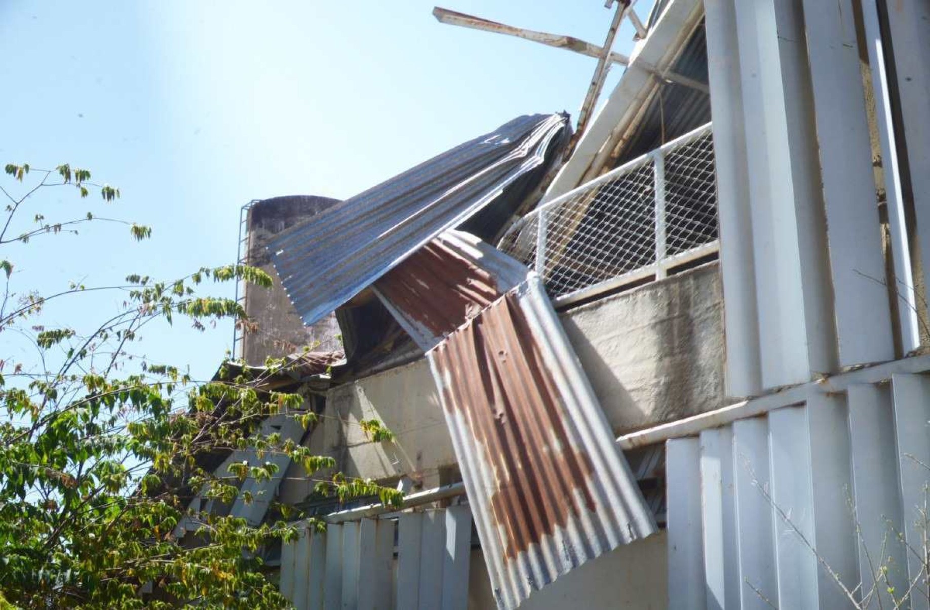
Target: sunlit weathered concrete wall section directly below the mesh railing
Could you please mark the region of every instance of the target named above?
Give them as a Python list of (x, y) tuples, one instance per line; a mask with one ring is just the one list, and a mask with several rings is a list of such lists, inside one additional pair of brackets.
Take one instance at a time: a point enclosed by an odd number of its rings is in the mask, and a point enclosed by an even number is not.
[(724, 406), (724, 297), (717, 263), (561, 317), (618, 434)]

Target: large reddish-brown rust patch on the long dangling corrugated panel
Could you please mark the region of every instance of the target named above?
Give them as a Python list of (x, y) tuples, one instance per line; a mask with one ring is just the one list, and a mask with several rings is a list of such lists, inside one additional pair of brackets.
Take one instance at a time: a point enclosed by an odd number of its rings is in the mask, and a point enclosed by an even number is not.
[(490, 505), (506, 557), (595, 511), (591, 458), (570, 441), (562, 392), (513, 293), (459, 328), (432, 358), (445, 379), (445, 407), (464, 414), (492, 465)]

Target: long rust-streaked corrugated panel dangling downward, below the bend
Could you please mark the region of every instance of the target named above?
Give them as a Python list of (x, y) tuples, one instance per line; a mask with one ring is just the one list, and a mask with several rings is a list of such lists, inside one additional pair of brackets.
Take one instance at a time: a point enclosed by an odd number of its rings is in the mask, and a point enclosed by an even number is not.
[(498, 607), (655, 531), (535, 273), (427, 357)]

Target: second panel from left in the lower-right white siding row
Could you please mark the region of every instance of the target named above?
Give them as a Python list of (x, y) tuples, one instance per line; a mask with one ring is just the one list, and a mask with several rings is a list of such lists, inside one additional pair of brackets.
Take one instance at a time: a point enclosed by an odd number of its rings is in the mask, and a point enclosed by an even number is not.
[(700, 433), (700, 490), (707, 607), (733, 610), (739, 607), (739, 564), (729, 427)]

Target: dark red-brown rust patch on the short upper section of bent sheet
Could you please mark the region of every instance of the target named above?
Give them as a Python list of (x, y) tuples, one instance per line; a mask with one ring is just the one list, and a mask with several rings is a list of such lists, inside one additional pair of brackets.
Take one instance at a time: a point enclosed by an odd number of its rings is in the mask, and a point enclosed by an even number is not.
[(376, 286), (436, 337), (445, 337), (500, 297), (489, 272), (438, 239), (387, 272)]

